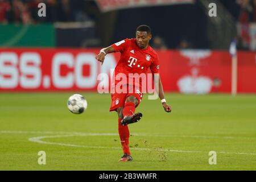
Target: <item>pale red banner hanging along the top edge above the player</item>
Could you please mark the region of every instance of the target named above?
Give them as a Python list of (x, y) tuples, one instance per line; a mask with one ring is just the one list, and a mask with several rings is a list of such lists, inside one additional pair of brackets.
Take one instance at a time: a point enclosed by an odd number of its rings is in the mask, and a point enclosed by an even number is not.
[(145, 6), (175, 5), (194, 3), (194, 0), (95, 0), (102, 12)]

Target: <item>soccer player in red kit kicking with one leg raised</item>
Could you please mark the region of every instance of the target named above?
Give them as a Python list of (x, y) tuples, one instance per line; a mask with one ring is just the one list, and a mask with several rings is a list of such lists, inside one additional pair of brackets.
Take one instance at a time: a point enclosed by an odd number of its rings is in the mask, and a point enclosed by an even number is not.
[[(151, 28), (146, 25), (141, 25), (137, 27), (136, 39), (125, 39), (121, 42), (112, 44), (112, 46), (102, 48), (100, 53), (96, 56), (96, 59), (103, 64), (105, 56), (108, 53), (121, 52), (121, 58), (115, 67), (114, 75), (122, 73), (129, 77), (129, 73), (146, 74), (148, 68), (150, 68), (153, 75), (159, 74), (158, 55), (148, 44), (151, 38)], [(162, 101), (164, 110), (169, 113), (171, 112), (171, 106), (168, 105), (164, 99), (163, 86), (160, 76), (158, 78), (158, 96)], [(115, 80), (114, 84), (117, 85), (118, 82), (118, 80)], [(142, 113), (135, 113), (135, 107), (139, 105), (143, 96), (141, 81), (139, 81), (139, 86), (137, 86), (137, 89), (135, 89), (134, 84), (133, 90), (131, 92), (129, 91), (130, 87), (128, 89), (127, 86), (127, 92), (125, 93), (112, 93), (112, 104), (109, 110), (117, 111), (118, 114), (118, 133), (124, 153), (119, 161), (123, 162), (133, 160), (129, 150), (130, 133), (127, 125), (138, 122), (142, 117)]]

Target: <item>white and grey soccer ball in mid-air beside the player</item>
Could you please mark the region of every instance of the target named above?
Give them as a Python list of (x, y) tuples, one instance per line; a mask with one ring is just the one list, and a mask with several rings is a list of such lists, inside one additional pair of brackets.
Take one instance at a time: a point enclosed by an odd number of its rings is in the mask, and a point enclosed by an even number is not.
[(87, 101), (80, 94), (73, 94), (73, 96), (68, 98), (68, 110), (74, 114), (81, 114), (87, 108)]

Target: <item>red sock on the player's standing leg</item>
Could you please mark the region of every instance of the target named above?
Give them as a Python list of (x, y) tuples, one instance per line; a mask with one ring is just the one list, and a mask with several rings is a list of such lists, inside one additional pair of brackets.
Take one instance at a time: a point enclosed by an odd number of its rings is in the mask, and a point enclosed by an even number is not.
[(130, 150), (129, 150), (129, 129), (128, 126), (122, 126), (121, 124), (122, 119), (118, 119), (118, 133), (119, 137), (121, 140), (122, 148), (123, 148), (123, 154), (128, 154), (130, 155)]

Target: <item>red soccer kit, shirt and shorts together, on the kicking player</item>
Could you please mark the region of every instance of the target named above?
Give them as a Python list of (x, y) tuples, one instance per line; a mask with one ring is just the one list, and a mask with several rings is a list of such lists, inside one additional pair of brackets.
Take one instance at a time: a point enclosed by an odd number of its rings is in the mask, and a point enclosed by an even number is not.
[[(121, 57), (114, 70), (115, 81), (112, 81), (112, 104), (110, 111), (116, 110), (118, 107), (123, 107), (125, 105), (126, 98), (129, 96), (137, 98), (137, 107), (141, 102), (143, 93), (146, 89), (143, 89), (144, 84), (140, 78), (135, 78), (135, 80), (139, 80), (139, 82), (135, 81), (130, 83), (130, 78), (137, 76), (133, 75), (129, 77), (129, 74), (138, 74), (138, 76), (141, 77), (144, 73), (146, 76), (148, 68), (150, 68), (151, 73), (153, 74), (159, 73), (158, 55), (150, 46), (146, 49), (139, 48), (137, 46), (136, 39), (125, 39), (112, 44), (112, 47), (115, 49), (115, 52), (121, 52)], [(125, 75), (127, 78), (126, 82), (123, 82), (123, 77), (121, 80), (117, 78), (119, 73)], [(130, 85), (133, 86), (130, 88)], [(115, 92), (113, 92), (113, 89)]]

